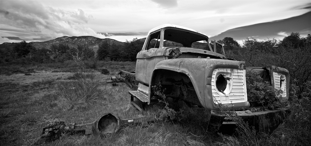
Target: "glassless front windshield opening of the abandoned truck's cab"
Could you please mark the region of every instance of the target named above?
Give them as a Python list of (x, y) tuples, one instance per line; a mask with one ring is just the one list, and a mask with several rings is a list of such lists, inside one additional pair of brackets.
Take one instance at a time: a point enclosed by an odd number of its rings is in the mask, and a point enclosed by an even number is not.
[(207, 37), (190, 31), (178, 29), (165, 29), (164, 31), (164, 47), (178, 46), (209, 50), (207, 43)]

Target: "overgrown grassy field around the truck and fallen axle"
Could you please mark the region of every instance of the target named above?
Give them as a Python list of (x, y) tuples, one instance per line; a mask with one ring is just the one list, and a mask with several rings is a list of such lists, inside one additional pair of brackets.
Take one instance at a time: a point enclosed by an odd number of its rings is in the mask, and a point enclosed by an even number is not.
[[(67, 64), (73, 65), (68, 62)], [(147, 127), (126, 125), (115, 134), (62, 134), (56, 141), (41, 139), (42, 128), (54, 121), (84, 124), (107, 112), (121, 119), (158, 115), (163, 105), (154, 104), (140, 113), (130, 104), (128, 86), (112, 87), (104, 81), (119, 70), (135, 70), (132, 62), (98, 62), (89, 76), (68, 79), (80, 72), (52, 72), (64, 64), (24, 66), (34, 69), (31, 76), (17, 73), (0, 75), (0, 145), (308, 145), (310, 141), (309, 98), (292, 103), (292, 113), (272, 134), (249, 137), (222, 135), (207, 131), (208, 111), (179, 102), (181, 117), (168, 122), (156, 121)], [(9, 67), (6, 67), (10, 70)], [(13, 66), (11, 70), (16, 70)], [(101, 74), (108, 69), (110, 75)], [(62, 67), (63, 70), (68, 68)], [(81, 75), (81, 74), (80, 74)], [(86, 78), (83, 78), (86, 77)], [(141, 104), (135, 99), (137, 104)], [(300, 105), (302, 103), (303, 105)]]

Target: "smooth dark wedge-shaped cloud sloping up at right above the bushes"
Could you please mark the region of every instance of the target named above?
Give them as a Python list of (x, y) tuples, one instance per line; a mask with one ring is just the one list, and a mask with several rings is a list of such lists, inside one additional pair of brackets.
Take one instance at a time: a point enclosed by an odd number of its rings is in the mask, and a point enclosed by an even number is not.
[(300, 35), (311, 33), (311, 12), (307, 12), (300, 16), (295, 16), (283, 20), (259, 23), (249, 26), (242, 26), (222, 32), (219, 35), (210, 37), (209, 40), (222, 40), (225, 37), (231, 37), (234, 40), (245, 40), (245, 38), (253, 37), (255, 39), (267, 38), (284, 38), (280, 33), (290, 34), (291, 32), (299, 32)]

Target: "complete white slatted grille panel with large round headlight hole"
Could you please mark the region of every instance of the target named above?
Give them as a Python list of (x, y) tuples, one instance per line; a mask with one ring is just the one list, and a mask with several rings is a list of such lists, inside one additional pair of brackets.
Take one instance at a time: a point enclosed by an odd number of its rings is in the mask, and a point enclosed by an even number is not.
[(247, 101), (245, 69), (216, 68), (211, 79), (211, 89), (219, 103)]

